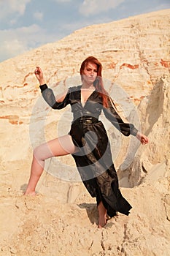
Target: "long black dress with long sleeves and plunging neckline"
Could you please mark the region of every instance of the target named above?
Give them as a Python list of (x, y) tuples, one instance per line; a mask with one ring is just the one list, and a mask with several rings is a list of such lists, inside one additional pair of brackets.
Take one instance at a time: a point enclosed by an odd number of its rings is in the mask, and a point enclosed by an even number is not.
[(96, 90), (82, 106), (81, 86), (70, 87), (63, 102), (56, 102), (53, 90), (47, 88), (46, 84), (40, 89), (51, 108), (61, 109), (68, 104), (72, 107), (73, 121), (69, 134), (79, 148), (72, 157), (90, 195), (96, 197), (97, 204), (103, 202), (109, 217), (115, 216), (117, 211), (128, 215), (132, 207), (120, 192), (107, 132), (98, 117), (103, 110), (107, 119), (125, 136), (136, 136), (138, 130), (133, 124), (123, 122), (109, 97), (109, 107), (104, 108), (101, 95)]

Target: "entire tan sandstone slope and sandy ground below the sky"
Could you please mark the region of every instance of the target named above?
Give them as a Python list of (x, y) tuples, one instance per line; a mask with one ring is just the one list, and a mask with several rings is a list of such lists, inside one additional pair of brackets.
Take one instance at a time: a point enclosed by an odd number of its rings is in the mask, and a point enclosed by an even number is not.
[[(89, 26), (0, 64), (1, 255), (170, 255), (169, 20), (170, 10), (162, 10)], [(37, 187), (42, 195), (23, 197), (33, 148), (68, 132), (71, 120), (68, 109), (50, 110), (42, 99), (34, 68), (42, 67), (58, 94), (80, 83), (80, 64), (91, 55), (103, 64), (120, 115), (150, 139), (134, 151), (128, 150), (129, 138), (121, 140), (114, 159), (121, 191), (133, 208), (129, 217), (119, 214), (102, 230), (96, 227), (96, 201), (82, 183), (67, 180), (77, 175), (69, 173), (75, 167), (71, 156), (50, 160), (55, 172), (43, 173)], [(120, 135), (108, 133), (115, 146)], [(133, 148), (136, 138), (130, 140)], [(133, 161), (125, 167), (128, 154)]]

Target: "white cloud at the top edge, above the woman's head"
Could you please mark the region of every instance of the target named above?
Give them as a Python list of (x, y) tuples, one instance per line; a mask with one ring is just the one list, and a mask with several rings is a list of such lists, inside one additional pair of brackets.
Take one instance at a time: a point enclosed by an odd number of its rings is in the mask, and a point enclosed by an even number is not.
[(80, 14), (84, 16), (106, 12), (109, 9), (115, 9), (125, 0), (84, 0), (80, 6)]

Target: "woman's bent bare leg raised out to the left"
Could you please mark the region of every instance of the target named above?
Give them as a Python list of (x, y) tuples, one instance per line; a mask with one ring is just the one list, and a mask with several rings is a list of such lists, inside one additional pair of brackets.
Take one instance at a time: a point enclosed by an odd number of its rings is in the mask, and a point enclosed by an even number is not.
[(45, 159), (72, 154), (75, 151), (76, 147), (74, 146), (70, 135), (50, 140), (49, 142), (35, 148), (31, 165), (31, 175), (24, 195), (36, 195), (36, 184), (44, 170)]

